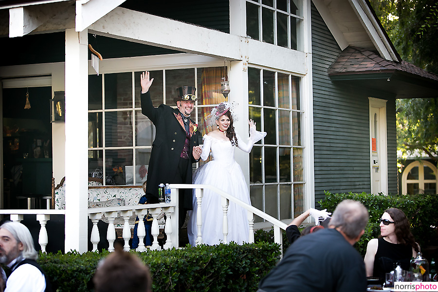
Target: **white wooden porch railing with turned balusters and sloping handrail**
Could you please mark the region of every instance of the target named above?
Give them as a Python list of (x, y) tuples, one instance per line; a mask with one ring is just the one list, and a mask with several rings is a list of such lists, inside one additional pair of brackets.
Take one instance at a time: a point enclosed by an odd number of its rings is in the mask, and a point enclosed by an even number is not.
[[(103, 238), (99, 237), (99, 231), (97, 227), (97, 222), (102, 219), (102, 216), (108, 219), (109, 226), (106, 235), (106, 239), (110, 243), (109, 250), (114, 250), (114, 240), (115, 238), (115, 227), (114, 227), (114, 219), (120, 213), (120, 216), (124, 219), (123, 224), (123, 232), (122, 237), (125, 240), (124, 250), (129, 250), (128, 240), (131, 238), (131, 226), (128, 222), (129, 218), (132, 215), (137, 215), (140, 218), (140, 222), (143, 222), (142, 218), (149, 213), (152, 218), (152, 226), (151, 226), (151, 234), (153, 237), (152, 245), (149, 247), (152, 250), (161, 249), (161, 246), (158, 244), (158, 235), (160, 233), (160, 228), (158, 224), (158, 217), (163, 212), (166, 215), (166, 220), (164, 223), (164, 233), (166, 234), (166, 242), (164, 244), (164, 249), (178, 247), (178, 192), (179, 189), (193, 188), (196, 190), (196, 198), (198, 201), (197, 205), (197, 226), (198, 226), (198, 238), (196, 240), (197, 244), (202, 243), (201, 236), (201, 226), (202, 226), (202, 197), (204, 189), (211, 190), (221, 196), (221, 204), (223, 210), (223, 235), (224, 235), (224, 243), (228, 243), (227, 234), (228, 234), (228, 219), (227, 219), (227, 211), (229, 202), (232, 201), (239, 205), (240, 207), (247, 210), (248, 215), (248, 224), (249, 224), (249, 242), (254, 242), (254, 215), (265, 219), (267, 222), (270, 222), (274, 226), (274, 241), (280, 244), (282, 250), (282, 233), (281, 229), (285, 230), (287, 224), (281, 222), (278, 219), (260, 211), (256, 207), (253, 207), (249, 204), (246, 204), (235, 197), (225, 193), (224, 191), (213, 187), (211, 185), (205, 184), (170, 184), (171, 188), (171, 202), (170, 203), (159, 203), (159, 204), (146, 204), (146, 205), (135, 205), (135, 206), (114, 206), (114, 207), (105, 207), (105, 208), (89, 208), (89, 218), (93, 223), (93, 227), (91, 230), (91, 243), (93, 244), (93, 251), (97, 250), (97, 244)], [(39, 232), (38, 242), (41, 245), (41, 250), (45, 252), (45, 247), (48, 243), (47, 239), (47, 231), (45, 225), (47, 220), (50, 219), (51, 214), (65, 214), (65, 210), (0, 210), (0, 214), (10, 214), (11, 220), (20, 221), (23, 219), (24, 214), (35, 214), (37, 215), (37, 220), (40, 222), (41, 229)], [(137, 235), (139, 237), (139, 246), (136, 249), (137, 251), (146, 251), (147, 248), (143, 242), (143, 238), (146, 236), (146, 229), (144, 224), (138, 224), (137, 227)]]

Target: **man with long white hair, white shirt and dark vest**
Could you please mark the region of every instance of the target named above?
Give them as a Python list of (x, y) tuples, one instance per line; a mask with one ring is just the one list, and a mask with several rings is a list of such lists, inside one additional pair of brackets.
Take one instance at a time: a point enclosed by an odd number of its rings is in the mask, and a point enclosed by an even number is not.
[(6, 264), (11, 272), (4, 292), (51, 291), (37, 258), (34, 241), (26, 226), (19, 222), (6, 222), (0, 226), (0, 263)]

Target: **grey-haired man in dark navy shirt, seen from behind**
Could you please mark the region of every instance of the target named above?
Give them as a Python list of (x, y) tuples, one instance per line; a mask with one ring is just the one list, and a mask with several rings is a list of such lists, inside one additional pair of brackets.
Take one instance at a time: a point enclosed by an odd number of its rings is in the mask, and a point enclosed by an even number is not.
[(298, 238), (260, 281), (258, 292), (365, 292), (364, 260), (352, 245), (367, 223), (363, 204), (342, 201), (329, 228)]

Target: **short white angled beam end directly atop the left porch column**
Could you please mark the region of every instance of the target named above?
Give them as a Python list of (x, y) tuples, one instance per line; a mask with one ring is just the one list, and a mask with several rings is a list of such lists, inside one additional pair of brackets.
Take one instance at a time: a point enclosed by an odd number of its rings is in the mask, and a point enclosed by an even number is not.
[(77, 0), (76, 31), (83, 31), (123, 2), (125, 0)]

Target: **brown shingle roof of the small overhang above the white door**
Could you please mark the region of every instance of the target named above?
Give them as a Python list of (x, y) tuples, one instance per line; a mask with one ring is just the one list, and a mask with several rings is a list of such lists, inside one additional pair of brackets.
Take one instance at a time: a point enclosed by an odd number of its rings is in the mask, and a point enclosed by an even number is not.
[(408, 62), (395, 62), (358, 47), (347, 47), (329, 67), (329, 75), (383, 73), (401, 71), (438, 81), (438, 75), (429, 73)]

